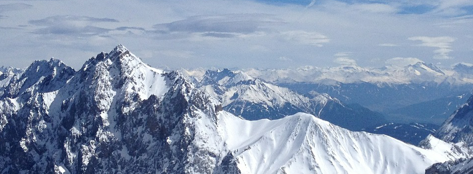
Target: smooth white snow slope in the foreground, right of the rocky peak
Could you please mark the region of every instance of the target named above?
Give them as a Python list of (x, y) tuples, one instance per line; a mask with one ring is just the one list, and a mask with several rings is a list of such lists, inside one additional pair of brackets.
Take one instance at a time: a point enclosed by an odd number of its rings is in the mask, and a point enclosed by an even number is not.
[(454, 158), (303, 113), (274, 121), (221, 115), (219, 131), (244, 174), (423, 174)]

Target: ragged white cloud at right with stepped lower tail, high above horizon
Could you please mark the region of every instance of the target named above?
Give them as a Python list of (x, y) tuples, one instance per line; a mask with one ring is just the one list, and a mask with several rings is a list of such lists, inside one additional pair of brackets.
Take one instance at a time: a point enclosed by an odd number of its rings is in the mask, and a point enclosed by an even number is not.
[(428, 46), (428, 47), (435, 47), (438, 48), (434, 50), (434, 59), (451, 59), (448, 53), (452, 52), (452, 43), (455, 41), (455, 38), (443, 36), (443, 37), (425, 37), (425, 36), (418, 36), (418, 37), (411, 37), (409, 38), (411, 41), (421, 41), (419, 46)]

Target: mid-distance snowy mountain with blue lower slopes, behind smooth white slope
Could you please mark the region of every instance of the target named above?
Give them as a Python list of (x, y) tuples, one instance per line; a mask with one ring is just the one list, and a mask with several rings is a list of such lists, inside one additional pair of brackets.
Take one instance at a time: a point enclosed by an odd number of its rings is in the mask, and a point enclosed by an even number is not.
[(222, 102), (224, 110), (246, 120), (275, 120), (305, 112), (354, 131), (386, 122), (379, 113), (345, 105), (328, 94), (312, 91), (307, 97), (241, 71), (208, 70), (199, 87)]

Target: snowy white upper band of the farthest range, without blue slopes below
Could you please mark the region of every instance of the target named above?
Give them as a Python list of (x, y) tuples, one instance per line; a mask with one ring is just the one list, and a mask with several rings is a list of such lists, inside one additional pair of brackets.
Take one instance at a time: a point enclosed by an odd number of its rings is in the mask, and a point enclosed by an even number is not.
[(417, 62), (413, 65), (399, 67), (389, 65), (383, 68), (359, 66), (342, 66), (318, 68), (306, 66), (296, 69), (244, 69), (248, 75), (273, 83), (318, 83), (333, 85), (334, 83), (372, 84), (421, 84), (434, 82), (452, 85), (472, 84), (473, 66), (457, 64), (453, 68), (441, 68), (433, 64)]

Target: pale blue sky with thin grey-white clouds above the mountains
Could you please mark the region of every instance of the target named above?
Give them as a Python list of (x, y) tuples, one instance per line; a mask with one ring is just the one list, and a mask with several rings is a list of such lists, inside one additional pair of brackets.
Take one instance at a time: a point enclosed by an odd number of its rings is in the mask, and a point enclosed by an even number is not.
[(118, 44), (171, 69), (450, 67), (473, 63), (473, 0), (0, 0), (0, 66)]

